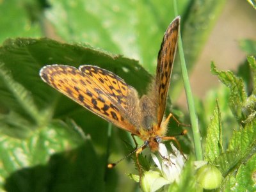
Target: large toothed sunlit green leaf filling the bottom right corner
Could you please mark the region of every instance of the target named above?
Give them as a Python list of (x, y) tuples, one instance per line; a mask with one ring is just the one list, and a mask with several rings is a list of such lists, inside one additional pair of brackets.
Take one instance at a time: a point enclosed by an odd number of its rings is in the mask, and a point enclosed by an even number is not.
[(254, 118), (245, 127), (241, 127), (239, 131), (234, 132), (228, 146), (228, 152), (221, 154), (220, 158), (216, 159), (215, 164), (220, 166), (222, 175), (225, 177), (221, 188), (237, 186), (237, 188), (243, 189), (246, 186), (244, 184), (249, 184), (251, 185), (250, 188), (255, 188), (252, 182), (252, 174), (256, 168), (255, 124), (256, 119)]

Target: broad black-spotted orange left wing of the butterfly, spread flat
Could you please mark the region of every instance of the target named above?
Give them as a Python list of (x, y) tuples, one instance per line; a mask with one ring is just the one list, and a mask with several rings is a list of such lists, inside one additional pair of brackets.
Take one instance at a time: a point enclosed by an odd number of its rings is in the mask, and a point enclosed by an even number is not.
[(126, 131), (136, 133), (125, 114), (129, 87), (123, 79), (99, 67), (83, 65), (79, 70), (66, 65), (48, 65), (40, 70), (41, 78), (89, 109)]

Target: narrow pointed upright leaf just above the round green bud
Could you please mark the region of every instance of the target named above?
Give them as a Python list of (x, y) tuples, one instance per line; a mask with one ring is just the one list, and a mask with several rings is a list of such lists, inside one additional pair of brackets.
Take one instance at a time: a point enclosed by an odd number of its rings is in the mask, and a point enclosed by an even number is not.
[(205, 143), (205, 158), (213, 162), (223, 151), (221, 134), (221, 116), (218, 102), (214, 109), (211, 122), (207, 128), (207, 138)]

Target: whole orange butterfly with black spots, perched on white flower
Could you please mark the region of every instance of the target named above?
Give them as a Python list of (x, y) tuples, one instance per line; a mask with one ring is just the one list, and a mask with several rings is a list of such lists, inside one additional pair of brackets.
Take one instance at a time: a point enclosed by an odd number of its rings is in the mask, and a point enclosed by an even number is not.
[[(165, 118), (164, 111), (179, 26), (180, 17), (176, 17), (166, 29), (158, 53), (156, 77), (142, 97), (121, 77), (97, 66), (81, 65), (77, 69), (67, 65), (47, 65), (40, 70), (40, 77), (45, 83), (116, 127), (131, 132), (132, 138), (138, 136), (144, 141), (135, 150), (140, 178), (138, 154), (146, 147), (156, 152), (163, 140), (176, 141), (175, 137), (166, 136), (172, 113)], [(115, 164), (109, 164), (111, 166)]]

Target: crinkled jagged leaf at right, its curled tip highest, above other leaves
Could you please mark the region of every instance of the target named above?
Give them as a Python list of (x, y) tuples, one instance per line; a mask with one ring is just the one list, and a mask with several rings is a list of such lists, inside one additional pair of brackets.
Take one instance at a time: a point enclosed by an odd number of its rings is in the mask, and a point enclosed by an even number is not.
[(243, 103), (247, 99), (243, 79), (237, 77), (229, 70), (227, 72), (217, 70), (214, 63), (211, 64), (211, 72), (212, 74), (218, 76), (220, 81), (230, 89), (231, 95), (228, 103), (232, 113), (234, 116), (236, 116), (237, 121), (240, 123), (241, 120), (245, 119), (242, 108)]

